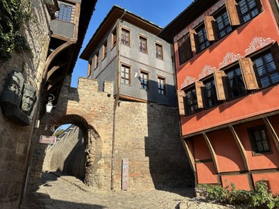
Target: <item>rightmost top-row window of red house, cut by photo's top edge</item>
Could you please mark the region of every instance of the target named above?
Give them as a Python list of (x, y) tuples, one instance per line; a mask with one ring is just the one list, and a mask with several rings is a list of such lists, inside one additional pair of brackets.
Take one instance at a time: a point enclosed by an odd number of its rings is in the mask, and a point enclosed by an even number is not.
[(259, 0), (239, 0), (236, 2), (238, 3), (239, 13), (243, 23), (255, 17), (261, 10)]

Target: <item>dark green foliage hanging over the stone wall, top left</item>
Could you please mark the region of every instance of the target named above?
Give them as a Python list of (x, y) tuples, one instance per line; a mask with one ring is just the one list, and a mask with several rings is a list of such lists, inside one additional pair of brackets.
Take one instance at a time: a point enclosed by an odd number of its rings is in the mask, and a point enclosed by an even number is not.
[(30, 17), (31, 5), (26, 0), (0, 0), (0, 61), (29, 49), (20, 29)]

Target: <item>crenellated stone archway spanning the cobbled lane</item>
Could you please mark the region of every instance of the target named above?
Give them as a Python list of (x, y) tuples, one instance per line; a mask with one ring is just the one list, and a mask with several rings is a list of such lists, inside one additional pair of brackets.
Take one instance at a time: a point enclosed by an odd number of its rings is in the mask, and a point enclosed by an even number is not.
[[(70, 79), (68, 77), (68, 79)], [(65, 82), (69, 84), (69, 82)], [(45, 114), (40, 127), (33, 134), (29, 187), (36, 189), (45, 158), (46, 144), (40, 144), (40, 135), (52, 135), (54, 129), (66, 123), (77, 125), (84, 132), (86, 171), (84, 183), (98, 189), (110, 188), (112, 118), (114, 98), (113, 83), (105, 82), (104, 92), (98, 91), (96, 79), (80, 78), (77, 88), (63, 86), (59, 102), (51, 114)]]

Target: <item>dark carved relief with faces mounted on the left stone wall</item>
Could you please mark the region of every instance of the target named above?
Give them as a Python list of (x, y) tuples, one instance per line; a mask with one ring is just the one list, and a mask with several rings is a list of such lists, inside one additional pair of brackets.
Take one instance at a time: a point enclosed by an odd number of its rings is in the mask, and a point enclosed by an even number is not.
[(1, 95), (5, 116), (19, 125), (30, 125), (36, 100), (36, 88), (24, 82), (21, 72), (13, 71)]

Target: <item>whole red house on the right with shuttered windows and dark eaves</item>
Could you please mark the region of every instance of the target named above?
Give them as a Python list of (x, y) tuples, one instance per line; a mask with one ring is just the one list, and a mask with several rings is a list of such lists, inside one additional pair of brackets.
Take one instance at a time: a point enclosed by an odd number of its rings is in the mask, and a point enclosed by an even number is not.
[(196, 185), (265, 180), (279, 193), (277, 0), (195, 0), (160, 33), (174, 43), (181, 139)]

